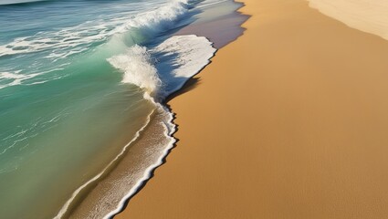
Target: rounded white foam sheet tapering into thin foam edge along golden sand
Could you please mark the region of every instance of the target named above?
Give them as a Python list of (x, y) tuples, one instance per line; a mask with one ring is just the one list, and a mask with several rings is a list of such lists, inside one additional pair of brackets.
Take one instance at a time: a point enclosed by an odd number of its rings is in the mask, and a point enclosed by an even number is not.
[[(136, 48), (140, 49), (140, 48)], [(169, 84), (174, 82), (175, 86), (170, 87), (170, 89), (163, 88), (164, 90), (160, 90), (158, 95), (159, 97), (166, 98), (167, 95), (173, 93), (174, 91), (181, 89), (184, 86), (185, 81), (187, 79), (193, 77), (197, 74), (204, 66), (206, 66), (210, 61), (209, 59), (214, 56), (216, 49), (212, 47), (212, 43), (207, 40), (205, 37), (200, 36), (172, 36), (169, 39), (165, 40), (158, 47), (152, 48), (147, 53), (143, 50), (142, 54), (160, 54), (163, 53), (163, 56), (171, 56), (174, 55), (175, 59), (173, 59), (173, 65), (176, 68), (173, 68), (171, 72), (168, 72), (167, 79), (172, 81), (163, 81), (165, 84)], [(151, 58), (140, 58), (138, 60), (147, 61), (148, 64), (143, 65), (151, 65), (149, 62)], [(124, 65), (125, 66), (125, 65)], [(139, 66), (139, 65), (136, 65)], [(155, 76), (156, 68), (152, 68), (152, 77)], [(148, 70), (148, 68), (146, 68)], [(147, 73), (149, 74), (149, 73)], [(161, 74), (161, 73), (160, 73)], [(133, 77), (133, 74), (126, 75), (124, 77)], [(162, 77), (159, 77), (162, 78)], [(127, 78), (128, 79), (128, 78)], [(175, 81), (173, 81), (175, 80)], [(176, 81), (178, 80), (178, 81)], [(133, 80), (126, 80), (131, 83)], [(168, 86), (167, 86), (168, 87)], [(152, 99), (153, 102), (153, 99)], [(137, 183), (133, 187), (130, 188), (129, 192), (121, 198), (121, 202), (117, 205), (117, 208), (107, 214), (104, 218), (110, 218), (114, 214), (117, 214), (121, 211), (122, 206), (126, 202), (128, 198), (130, 198), (134, 193), (136, 193), (142, 186), (142, 183), (151, 177), (151, 172), (158, 166), (163, 164), (163, 159), (167, 156), (168, 151), (173, 148), (173, 144), (175, 143), (175, 139), (173, 138), (173, 133), (176, 131), (176, 126), (173, 124), (173, 113), (165, 108), (162, 104), (158, 102), (153, 102), (158, 110), (162, 110), (163, 113), (163, 127), (164, 127), (164, 137), (166, 138), (167, 143), (160, 147), (160, 151), (153, 151), (155, 154), (154, 162), (151, 166), (148, 166), (142, 176), (137, 179)]]

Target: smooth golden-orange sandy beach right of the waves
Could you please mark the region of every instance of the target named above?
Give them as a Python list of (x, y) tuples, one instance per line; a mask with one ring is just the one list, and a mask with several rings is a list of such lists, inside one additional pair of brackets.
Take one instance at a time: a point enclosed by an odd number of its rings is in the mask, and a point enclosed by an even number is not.
[(244, 2), (244, 36), (169, 101), (179, 141), (115, 218), (385, 218), (388, 41), (304, 0)]

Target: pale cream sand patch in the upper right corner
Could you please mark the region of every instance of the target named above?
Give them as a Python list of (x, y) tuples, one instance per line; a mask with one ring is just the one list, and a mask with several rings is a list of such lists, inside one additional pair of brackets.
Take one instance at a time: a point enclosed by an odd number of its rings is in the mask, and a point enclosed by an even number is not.
[(388, 39), (386, 0), (308, 0), (309, 6), (347, 26)]

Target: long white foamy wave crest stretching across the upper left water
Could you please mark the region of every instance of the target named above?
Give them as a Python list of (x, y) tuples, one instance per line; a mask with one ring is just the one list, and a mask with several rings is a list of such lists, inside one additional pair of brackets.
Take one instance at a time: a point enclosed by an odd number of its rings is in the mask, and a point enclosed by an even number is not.
[(47, 57), (64, 58), (82, 52), (95, 42), (103, 42), (111, 36), (123, 34), (133, 28), (159, 33), (174, 26), (174, 22), (188, 12), (187, 0), (172, 0), (154, 10), (140, 14), (126, 13), (121, 18), (85, 22), (59, 31), (39, 32), (34, 36), (17, 37), (0, 45), (0, 57), (52, 50)]

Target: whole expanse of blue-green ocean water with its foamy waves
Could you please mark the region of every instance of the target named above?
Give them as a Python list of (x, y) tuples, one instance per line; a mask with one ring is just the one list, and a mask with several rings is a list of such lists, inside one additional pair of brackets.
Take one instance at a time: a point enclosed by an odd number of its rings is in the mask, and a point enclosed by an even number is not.
[(0, 218), (119, 212), (175, 142), (163, 99), (215, 54), (174, 33), (225, 5), (0, 0)]

